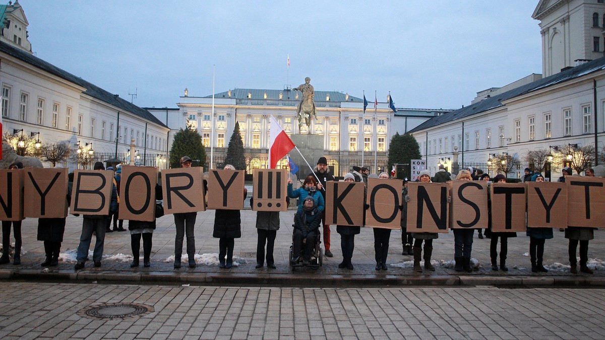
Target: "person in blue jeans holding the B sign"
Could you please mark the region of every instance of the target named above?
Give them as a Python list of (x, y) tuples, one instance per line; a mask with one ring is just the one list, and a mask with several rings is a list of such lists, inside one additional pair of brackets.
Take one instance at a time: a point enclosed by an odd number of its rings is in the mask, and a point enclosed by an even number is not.
[[(105, 170), (102, 162), (96, 162), (93, 170)], [(117, 211), (117, 190), (116, 185), (111, 185), (110, 214)], [(103, 258), (103, 247), (105, 246), (105, 230), (109, 215), (84, 215), (82, 219), (82, 235), (80, 235), (80, 244), (77, 247), (76, 266), (77, 271), (83, 269), (88, 260), (88, 249), (90, 241), (93, 238), (93, 232), (96, 234), (96, 243), (94, 244), (93, 261), (95, 267), (101, 266)]]

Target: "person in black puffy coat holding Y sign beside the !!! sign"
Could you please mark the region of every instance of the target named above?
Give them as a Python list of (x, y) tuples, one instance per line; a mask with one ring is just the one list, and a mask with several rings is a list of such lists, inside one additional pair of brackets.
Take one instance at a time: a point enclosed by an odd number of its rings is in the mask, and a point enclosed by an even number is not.
[[(235, 170), (231, 164), (224, 166), (224, 170)], [(248, 190), (244, 188), (243, 199), (246, 199)], [(214, 230), (212, 237), (218, 239), (218, 268), (229, 269), (233, 266), (233, 249), (235, 239), (241, 237), (241, 217), (239, 210), (217, 209), (214, 212)]]

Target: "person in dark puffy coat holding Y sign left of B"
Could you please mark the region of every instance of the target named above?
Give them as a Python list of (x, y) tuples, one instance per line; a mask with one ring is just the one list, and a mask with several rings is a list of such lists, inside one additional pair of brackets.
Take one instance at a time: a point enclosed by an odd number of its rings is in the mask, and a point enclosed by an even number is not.
[[(71, 205), (71, 188), (73, 186), (73, 176), (71, 181), (67, 182), (67, 205)], [(42, 267), (54, 267), (59, 264), (59, 252), (63, 234), (65, 233), (65, 219), (59, 217), (56, 219), (38, 219), (38, 241), (44, 242), (44, 253), (46, 259), (41, 263)]]

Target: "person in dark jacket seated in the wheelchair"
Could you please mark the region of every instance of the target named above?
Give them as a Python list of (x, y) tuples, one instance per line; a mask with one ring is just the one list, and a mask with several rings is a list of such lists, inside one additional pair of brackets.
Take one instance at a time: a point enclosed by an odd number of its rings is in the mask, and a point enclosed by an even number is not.
[(309, 265), (313, 249), (317, 243), (319, 223), (321, 223), (321, 212), (315, 205), (313, 197), (307, 196), (302, 203), (302, 210), (294, 215), (294, 255), (290, 259), (292, 265), (298, 263), (303, 250), (302, 265)]

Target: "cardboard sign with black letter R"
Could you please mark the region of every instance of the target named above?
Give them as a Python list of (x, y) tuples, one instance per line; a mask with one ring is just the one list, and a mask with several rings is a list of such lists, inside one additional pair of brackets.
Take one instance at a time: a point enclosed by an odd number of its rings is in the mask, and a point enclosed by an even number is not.
[(202, 167), (162, 170), (162, 184), (166, 214), (206, 210)]

